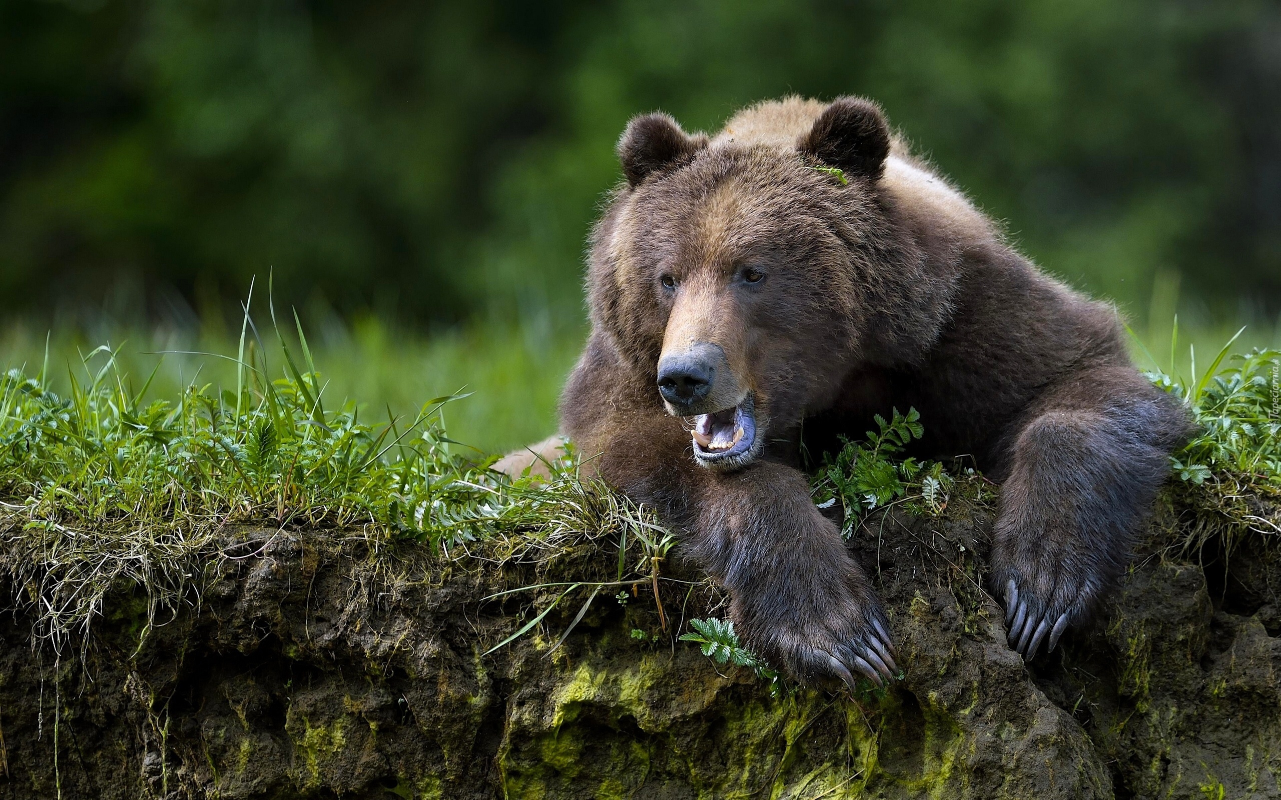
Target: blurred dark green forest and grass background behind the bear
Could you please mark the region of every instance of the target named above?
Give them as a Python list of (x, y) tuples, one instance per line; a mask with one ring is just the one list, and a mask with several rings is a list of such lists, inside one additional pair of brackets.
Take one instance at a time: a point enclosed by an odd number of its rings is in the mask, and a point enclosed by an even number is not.
[[(329, 394), (466, 385), (456, 438), (539, 438), (628, 118), (790, 92), (880, 101), (1162, 366), (1176, 312), (1180, 369), (1277, 340), (1271, 1), (0, 0), (0, 365), (229, 352), (270, 275)], [(154, 392), (197, 370), (229, 374), (169, 355)]]

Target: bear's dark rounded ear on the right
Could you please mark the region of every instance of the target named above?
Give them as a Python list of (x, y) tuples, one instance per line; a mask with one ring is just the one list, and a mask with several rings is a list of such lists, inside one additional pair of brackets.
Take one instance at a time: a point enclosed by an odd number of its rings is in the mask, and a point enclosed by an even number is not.
[(889, 125), (875, 102), (839, 97), (801, 137), (797, 150), (847, 174), (880, 178), (889, 155)]

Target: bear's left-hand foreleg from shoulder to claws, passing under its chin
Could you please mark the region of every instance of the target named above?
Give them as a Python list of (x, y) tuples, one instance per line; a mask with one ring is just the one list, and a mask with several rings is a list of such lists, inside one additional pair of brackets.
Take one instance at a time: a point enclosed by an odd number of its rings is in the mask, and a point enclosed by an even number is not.
[(885, 613), (806, 476), (770, 461), (733, 472), (699, 466), (683, 421), (649, 399), (653, 378), (629, 378), (608, 347), (593, 334), (561, 404), (583, 474), (679, 532), (678, 553), (729, 590), (735, 630), (772, 664), (810, 684), (889, 676)]

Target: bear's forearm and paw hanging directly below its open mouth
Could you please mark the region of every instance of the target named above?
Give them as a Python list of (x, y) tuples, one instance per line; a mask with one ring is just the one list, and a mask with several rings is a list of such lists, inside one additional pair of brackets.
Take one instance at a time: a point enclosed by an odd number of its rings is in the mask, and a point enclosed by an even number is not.
[(897, 666), (885, 613), (804, 476), (756, 463), (701, 477), (684, 544), (729, 590), (744, 641), (807, 684), (888, 678)]

